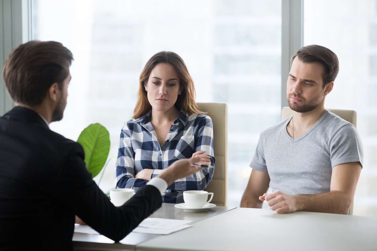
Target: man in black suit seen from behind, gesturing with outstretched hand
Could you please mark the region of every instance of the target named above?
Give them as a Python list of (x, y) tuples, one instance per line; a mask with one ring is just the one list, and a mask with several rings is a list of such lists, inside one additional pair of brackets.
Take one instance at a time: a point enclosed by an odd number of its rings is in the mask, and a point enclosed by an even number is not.
[(168, 184), (201, 170), (192, 165), (198, 157), (176, 161), (115, 207), (87, 172), (81, 145), (49, 129), (63, 118), (72, 60), (60, 43), (30, 41), (5, 63), (15, 107), (0, 117), (2, 250), (72, 250), (75, 215), (121, 240), (161, 207)]

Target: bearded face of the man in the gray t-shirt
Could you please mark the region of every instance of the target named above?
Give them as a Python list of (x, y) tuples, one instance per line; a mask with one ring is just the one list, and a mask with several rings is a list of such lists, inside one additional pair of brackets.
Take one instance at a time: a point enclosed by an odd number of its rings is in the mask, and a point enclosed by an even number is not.
[(325, 101), (323, 71), (318, 62), (305, 63), (297, 56), (294, 58), (287, 80), (287, 100), (293, 111), (305, 113)]

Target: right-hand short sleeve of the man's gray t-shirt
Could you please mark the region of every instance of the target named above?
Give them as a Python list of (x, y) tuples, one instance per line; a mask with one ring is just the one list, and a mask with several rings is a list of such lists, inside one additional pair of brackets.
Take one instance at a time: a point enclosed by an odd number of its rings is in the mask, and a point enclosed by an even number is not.
[(363, 144), (354, 125), (345, 125), (336, 132), (330, 141), (329, 153), (331, 168), (357, 161), (363, 166)]

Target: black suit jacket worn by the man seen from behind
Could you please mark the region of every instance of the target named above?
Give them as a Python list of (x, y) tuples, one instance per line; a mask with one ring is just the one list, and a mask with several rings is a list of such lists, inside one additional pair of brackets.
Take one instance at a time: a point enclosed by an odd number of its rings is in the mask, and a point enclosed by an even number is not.
[(161, 203), (158, 189), (144, 186), (115, 207), (87, 172), (80, 144), (27, 108), (0, 117), (0, 249), (72, 250), (75, 214), (118, 241)]

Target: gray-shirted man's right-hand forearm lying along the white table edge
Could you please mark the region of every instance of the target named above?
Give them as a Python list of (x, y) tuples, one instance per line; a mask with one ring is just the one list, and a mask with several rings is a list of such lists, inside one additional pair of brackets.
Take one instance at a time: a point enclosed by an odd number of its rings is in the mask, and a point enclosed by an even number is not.
[(295, 195), (297, 211), (346, 214), (352, 196), (345, 192), (331, 191), (316, 195)]

